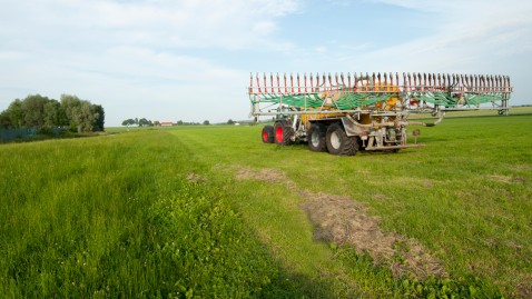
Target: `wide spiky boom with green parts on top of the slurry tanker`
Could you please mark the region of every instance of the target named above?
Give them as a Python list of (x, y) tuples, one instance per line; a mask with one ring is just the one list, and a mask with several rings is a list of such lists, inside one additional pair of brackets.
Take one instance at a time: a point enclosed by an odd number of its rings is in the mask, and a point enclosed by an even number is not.
[(512, 92), (510, 77), (441, 73), (277, 73), (249, 79), (252, 116), (278, 114), (279, 106), (296, 113), (371, 111), (391, 112), (391, 102), (408, 112), (497, 109), (506, 111)]

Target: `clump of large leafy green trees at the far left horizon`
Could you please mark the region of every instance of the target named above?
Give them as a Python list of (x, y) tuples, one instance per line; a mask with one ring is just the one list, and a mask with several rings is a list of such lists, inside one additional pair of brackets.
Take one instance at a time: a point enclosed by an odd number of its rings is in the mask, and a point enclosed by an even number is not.
[(69, 94), (61, 94), (59, 101), (40, 94), (16, 99), (0, 113), (0, 129), (92, 132), (104, 131), (104, 107)]

